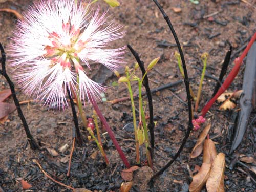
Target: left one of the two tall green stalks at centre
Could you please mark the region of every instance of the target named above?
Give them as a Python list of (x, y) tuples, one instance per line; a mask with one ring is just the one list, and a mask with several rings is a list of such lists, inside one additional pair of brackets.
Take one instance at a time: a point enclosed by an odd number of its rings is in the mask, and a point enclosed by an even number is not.
[[(128, 74), (127, 74), (127, 77), (129, 77)], [(139, 164), (140, 163), (139, 141), (138, 141), (138, 137), (137, 137), (135, 105), (134, 105), (133, 91), (132, 91), (130, 80), (127, 82), (127, 85), (128, 85), (127, 87), (128, 87), (130, 97), (131, 97), (132, 110), (133, 110), (133, 126), (134, 126), (135, 142), (136, 142), (136, 162), (137, 162), (137, 164)]]

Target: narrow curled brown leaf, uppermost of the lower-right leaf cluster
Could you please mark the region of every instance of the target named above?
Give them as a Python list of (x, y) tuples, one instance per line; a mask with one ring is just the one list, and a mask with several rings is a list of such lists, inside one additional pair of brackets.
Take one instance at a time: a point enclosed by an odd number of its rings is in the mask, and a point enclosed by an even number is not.
[(210, 130), (210, 126), (211, 124), (208, 124), (204, 130), (202, 131), (202, 133), (200, 134), (198, 140), (197, 140), (197, 143), (196, 145), (194, 146), (191, 154), (190, 154), (190, 157), (193, 159), (193, 158), (196, 158), (197, 156), (199, 156), (202, 151), (203, 151), (203, 142), (204, 142), (204, 139), (205, 137), (207, 136), (209, 130)]

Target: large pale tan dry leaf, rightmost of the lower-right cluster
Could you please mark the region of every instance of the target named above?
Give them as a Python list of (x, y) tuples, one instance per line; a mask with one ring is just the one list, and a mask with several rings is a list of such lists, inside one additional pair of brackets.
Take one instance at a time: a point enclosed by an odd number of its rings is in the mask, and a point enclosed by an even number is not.
[(224, 192), (225, 154), (219, 153), (212, 163), (209, 178), (206, 182), (208, 192)]

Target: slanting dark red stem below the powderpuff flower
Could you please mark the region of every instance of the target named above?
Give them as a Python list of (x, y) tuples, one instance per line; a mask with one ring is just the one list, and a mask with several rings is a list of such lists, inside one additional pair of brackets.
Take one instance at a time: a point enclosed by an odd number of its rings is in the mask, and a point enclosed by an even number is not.
[(109, 134), (111, 140), (113, 141), (113, 144), (115, 145), (116, 150), (118, 151), (118, 153), (119, 153), (119, 155), (120, 155), (120, 157), (121, 157), (121, 159), (122, 159), (124, 165), (125, 165), (127, 168), (130, 168), (130, 163), (129, 163), (128, 160), (126, 159), (126, 157), (125, 157), (125, 155), (124, 155), (124, 153), (123, 153), (121, 147), (120, 147), (119, 144), (117, 143), (117, 140), (116, 140), (116, 138), (115, 138), (115, 135), (114, 135), (114, 133), (112, 132), (112, 130), (111, 130), (110, 125), (108, 124), (108, 122), (106, 122), (105, 117), (102, 115), (102, 113), (101, 113), (101, 111), (100, 111), (100, 109), (99, 109), (99, 107), (98, 107), (98, 105), (97, 105), (97, 102), (95, 101), (95, 99), (94, 99), (93, 97), (91, 97), (90, 94), (88, 94), (88, 96), (89, 96), (90, 102), (91, 102), (92, 105), (93, 105), (94, 110), (96, 111), (97, 115), (99, 116), (99, 118), (100, 118), (102, 124), (104, 125), (106, 131), (108, 132), (108, 134)]

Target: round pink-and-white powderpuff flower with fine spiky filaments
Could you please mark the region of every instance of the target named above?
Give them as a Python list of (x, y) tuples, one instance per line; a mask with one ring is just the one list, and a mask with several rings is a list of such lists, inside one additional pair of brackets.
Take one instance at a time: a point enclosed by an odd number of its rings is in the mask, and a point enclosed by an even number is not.
[[(110, 42), (125, 35), (122, 28), (89, 10), (78, 0), (47, 0), (34, 4), (19, 20), (8, 48), (14, 80), (25, 93), (45, 104), (67, 105), (67, 88), (85, 102), (99, 97), (105, 87), (91, 80), (84, 68), (90, 61), (111, 70), (120, 67), (125, 47), (108, 49)], [(78, 87), (78, 88), (76, 88)]]

